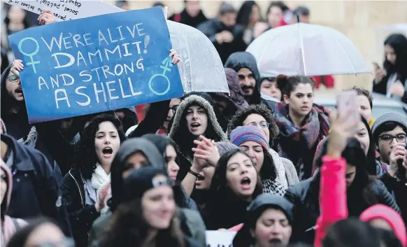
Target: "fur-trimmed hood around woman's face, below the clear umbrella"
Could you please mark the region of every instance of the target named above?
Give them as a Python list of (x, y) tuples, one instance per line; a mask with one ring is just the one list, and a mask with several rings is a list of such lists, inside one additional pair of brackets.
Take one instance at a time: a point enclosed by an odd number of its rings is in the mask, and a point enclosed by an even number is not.
[(213, 111), (213, 106), (203, 97), (191, 94), (181, 101), (180, 106), (178, 106), (176, 115), (173, 117), (171, 131), (169, 132), (169, 138), (173, 139), (173, 141), (180, 146), (180, 151), (184, 155), (187, 155), (187, 157), (190, 159), (192, 159), (192, 157), (190, 157), (191, 155), (189, 155), (190, 150), (185, 150), (185, 147), (193, 146), (193, 140), (187, 140), (187, 136), (191, 136), (191, 134), (188, 132), (186, 126), (185, 115), (187, 113), (187, 109), (192, 105), (201, 106), (208, 115), (207, 128), (211, 126), (214, 133), (211, 134), (211, 136), (206, 137), (208, 139), (213, 139), (213, 141), (228, 141), (227, 135), (223, 132), (222, 127), (220, 127), (220, 124), (217, 122), (215, 112)]

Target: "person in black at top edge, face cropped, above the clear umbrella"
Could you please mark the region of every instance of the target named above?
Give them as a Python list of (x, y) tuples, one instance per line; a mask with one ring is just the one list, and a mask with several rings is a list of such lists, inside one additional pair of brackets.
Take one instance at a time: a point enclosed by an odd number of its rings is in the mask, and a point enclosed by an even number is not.
[(185, 8), (183, 12), (171, 15), (169, 20), (180, 22), (194, 28), (197, 28), (199, 24), (208, 20), (201, 10), (199, 0), (184, 0), (184, 3)]

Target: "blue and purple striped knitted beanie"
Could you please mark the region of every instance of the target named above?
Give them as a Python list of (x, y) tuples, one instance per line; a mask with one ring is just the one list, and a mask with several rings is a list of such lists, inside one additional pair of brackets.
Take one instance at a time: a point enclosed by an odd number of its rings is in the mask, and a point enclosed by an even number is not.
[(230, 133), (230, 142), (239, 146), (245, 141), (255, 141), (263, 146), (266, 150), (269, 150), (269, 142), (264, 135), (262, 129), (257, 126), (246, 125), (239, 126), (232, 130)]

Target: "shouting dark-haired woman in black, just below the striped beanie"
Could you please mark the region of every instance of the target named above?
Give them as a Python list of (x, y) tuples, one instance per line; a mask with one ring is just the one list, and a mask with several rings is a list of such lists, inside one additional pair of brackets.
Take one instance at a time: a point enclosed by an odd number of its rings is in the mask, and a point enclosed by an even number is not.
[(202, 209), (207, 230), (230, 228), (245, 220), (247, 206), (262, 194), (252, 159), (242, 150), (224, 153), (210, 183), (210, 201)]

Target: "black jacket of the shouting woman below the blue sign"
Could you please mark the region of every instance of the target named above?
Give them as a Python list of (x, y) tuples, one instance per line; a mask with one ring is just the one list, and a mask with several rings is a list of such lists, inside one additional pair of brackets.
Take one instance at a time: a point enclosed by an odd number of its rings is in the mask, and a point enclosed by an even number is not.
[(85, 188), (78, 169), (71, 169), (62, 180), (62, 204), (68, 214), (76, 247), (86, 247), (92, 223), (100, 213), (94, 205), (85, 204)]

